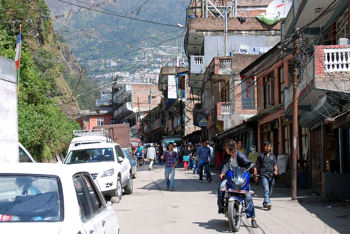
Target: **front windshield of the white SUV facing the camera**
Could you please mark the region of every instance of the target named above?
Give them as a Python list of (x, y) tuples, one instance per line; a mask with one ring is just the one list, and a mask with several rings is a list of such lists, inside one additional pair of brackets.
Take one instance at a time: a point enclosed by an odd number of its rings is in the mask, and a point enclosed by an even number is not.
[(114, 161), (112, 148), (72, 150), (64, 164)]

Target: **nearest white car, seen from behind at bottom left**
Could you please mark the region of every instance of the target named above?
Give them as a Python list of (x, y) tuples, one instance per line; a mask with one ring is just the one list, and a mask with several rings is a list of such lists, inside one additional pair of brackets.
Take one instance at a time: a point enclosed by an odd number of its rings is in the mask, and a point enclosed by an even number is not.
[[(116, 213), (88, 172), (51, 163), (0, 164), (1, 233), (116, 234)], [(112, 203), (119, 198), (113, 197)]]

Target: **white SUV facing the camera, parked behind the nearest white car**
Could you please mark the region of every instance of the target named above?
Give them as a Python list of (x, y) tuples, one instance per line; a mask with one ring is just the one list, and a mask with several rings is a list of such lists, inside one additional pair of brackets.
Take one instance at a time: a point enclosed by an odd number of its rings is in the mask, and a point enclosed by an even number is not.
[(132, 193), (132, 169), (129, 159), (117, 143), (92, 143), (69, 151), (64, 164), (90, 172), (104, 195), (119, 197)]

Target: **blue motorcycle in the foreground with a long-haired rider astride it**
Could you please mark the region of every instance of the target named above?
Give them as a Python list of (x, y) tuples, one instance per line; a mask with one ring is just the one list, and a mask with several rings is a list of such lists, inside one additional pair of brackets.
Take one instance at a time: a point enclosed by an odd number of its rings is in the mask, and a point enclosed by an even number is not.
[[(247, 170), (241, 167), (234, 167), (230, 165), (226, 177), (225, 187), (221, 189), (224, 191), (224, 206), (220, 205), (224, 211), (225, 217), (229, 219), (229, 225), (233, 232), (238, 232), (241, 225), (241, 217), (245, 213), (245, 194), (254, 192), (250, 190), (249, 177), (257, 177), (258, 175), (249, 175), (249, 169), (254, 168), (255, 163), (250, 165)], [(247, 204), (247, 207), (252, 204)]]

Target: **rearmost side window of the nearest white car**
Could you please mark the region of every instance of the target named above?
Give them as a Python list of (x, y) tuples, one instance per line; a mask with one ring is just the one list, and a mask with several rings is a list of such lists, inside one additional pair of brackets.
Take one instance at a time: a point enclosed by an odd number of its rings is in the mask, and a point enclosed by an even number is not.
[(83, 187), (85, 182), (82, 182), (82, 179), (79, 176), (76, 176), (73, 178), (73, 183), (78, 199), (80, 219), (87, 219), (92, 215), (92, 209), (87, 199), (88, 195), (86, 194), (86, 191)]

